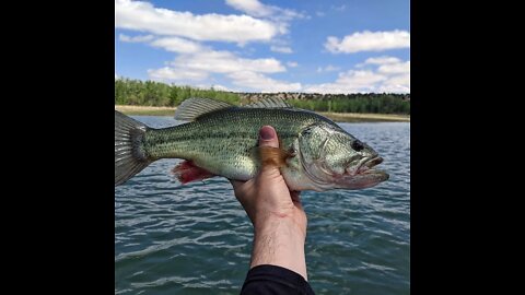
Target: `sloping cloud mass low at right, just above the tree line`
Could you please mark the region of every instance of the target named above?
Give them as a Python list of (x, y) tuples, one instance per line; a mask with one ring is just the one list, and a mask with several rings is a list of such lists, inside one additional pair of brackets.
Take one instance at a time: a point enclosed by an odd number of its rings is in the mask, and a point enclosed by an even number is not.
[[(370, 58), (355, 66), (366, 69), (340, 72), (332, 83), (305, 85), (315, 93), (410, 93), (410, 60), (394, 57)], [(320, 68), (323, 69), (323, 68)]]

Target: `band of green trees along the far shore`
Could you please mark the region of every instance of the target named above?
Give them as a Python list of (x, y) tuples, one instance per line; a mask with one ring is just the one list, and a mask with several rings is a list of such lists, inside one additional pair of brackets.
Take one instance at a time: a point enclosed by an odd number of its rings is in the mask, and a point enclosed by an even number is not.
[(115, 80), (115, 104), (139, 106), (178, 106), (189, 97), (207, 97), (233, 105), (261, 97), (277, 96), (295, 107), (334, 113), (375, 113), (410, 115), (410, 94), (299, 94), (299, 93), (234, 93), (191, 86), (168, 85), (154, 81)]

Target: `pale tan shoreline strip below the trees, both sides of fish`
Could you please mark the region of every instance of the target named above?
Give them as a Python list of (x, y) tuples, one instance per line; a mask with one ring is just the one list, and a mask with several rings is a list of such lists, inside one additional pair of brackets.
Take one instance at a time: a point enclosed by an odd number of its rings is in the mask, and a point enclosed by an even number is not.
[[(176, 107), (115, 105), (115, 109), (131, 116), (173, 116)], [(410, 122), (410, 116), (393, 114), (316, 111), (336, 122)]]

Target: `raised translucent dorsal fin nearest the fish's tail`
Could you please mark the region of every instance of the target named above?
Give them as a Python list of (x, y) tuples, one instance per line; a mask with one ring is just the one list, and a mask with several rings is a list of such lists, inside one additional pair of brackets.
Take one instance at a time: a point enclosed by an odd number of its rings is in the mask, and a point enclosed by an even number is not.
[(175, 120), (192, 121), (199, 116), (226, 107), (232, 107), (232, 105), (210, 98), (188, 98), (177, 107), (177, 110), (175, 110)]

